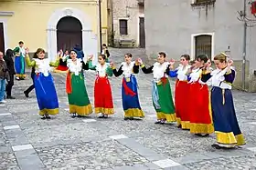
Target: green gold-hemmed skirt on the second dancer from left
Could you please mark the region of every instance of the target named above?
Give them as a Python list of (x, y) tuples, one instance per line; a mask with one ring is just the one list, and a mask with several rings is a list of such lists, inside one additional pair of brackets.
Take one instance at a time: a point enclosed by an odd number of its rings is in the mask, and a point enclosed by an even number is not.
[(83, 75), (71, 74), (71, 93), (69, 98), (69, 113), (81, 116), (92, 113), (91, 103), (84, 85)]

